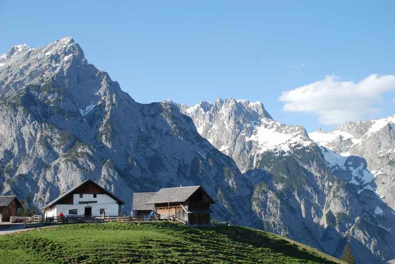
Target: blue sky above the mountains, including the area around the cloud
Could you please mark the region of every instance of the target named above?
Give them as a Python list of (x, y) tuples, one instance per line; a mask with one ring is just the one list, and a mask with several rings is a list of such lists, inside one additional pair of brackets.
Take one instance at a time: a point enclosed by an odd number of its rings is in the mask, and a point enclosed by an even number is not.
[[(142, 2), (0, 0), (0, 53), (72, 36), (137, 102), (261, 101), (308, 131), (395, 114), (394, 1)], [(358, 92), (372, 74), (389, 77)], [(314, 95), (302, 100), (303, 85)], [(310, 98), (318, 103), (306, 109)]]

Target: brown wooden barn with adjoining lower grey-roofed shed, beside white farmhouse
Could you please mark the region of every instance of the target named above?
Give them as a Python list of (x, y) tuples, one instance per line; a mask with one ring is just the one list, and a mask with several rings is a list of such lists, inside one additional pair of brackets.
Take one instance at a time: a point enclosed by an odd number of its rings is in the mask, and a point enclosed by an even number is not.
[[(188, 226), (208, 226), (212, 213), (210, 204), (213, 204), (214, 200), (201, 186), (188, 186), (163, 188), (145, 196), (139, 193), (136, 197), (136, 205), (144, 202), (146, 205), (153, 206), (150, 209), (155, 210), (159, 219), (174, 217)], [(135, 204), (135, 198), (133, 198), (133, 204)], [(149, 212), (149, 209), (145, 212)]]

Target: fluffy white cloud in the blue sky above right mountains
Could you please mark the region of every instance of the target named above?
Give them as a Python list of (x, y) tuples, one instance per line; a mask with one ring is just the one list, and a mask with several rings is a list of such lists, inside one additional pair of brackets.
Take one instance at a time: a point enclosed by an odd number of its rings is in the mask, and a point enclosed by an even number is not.
[(340, 124), (372, 116), (375, 107), (388, 91), (395, 90), (395, 75), (369, 75), (358, 83), (341, 81), (337, 76), (326, 76), (281, 93), (286, 112), (314, 113), (322, 124)]

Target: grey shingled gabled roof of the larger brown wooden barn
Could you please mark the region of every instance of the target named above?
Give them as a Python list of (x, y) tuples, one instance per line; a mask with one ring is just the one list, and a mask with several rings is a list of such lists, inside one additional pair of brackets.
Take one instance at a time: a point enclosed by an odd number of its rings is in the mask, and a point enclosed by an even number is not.
[(208, 195), (208, 193), (200, 186), (187, 186), (187, 187), (176, 187), (176, 188), (163, 188), (160, 189), (151, 199), (147, 201), (147, 204), (154, 203), (167, 203), (167, 202), (185, 202), (192, 196), (198, 189), (203, 190), (207, 196), (211, 199), (211, 203), (214, 200)]

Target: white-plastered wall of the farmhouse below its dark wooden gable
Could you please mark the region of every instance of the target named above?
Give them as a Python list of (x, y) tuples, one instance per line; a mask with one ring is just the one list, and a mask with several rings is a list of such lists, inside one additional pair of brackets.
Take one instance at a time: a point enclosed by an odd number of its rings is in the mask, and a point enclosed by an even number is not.
[[(97, 194), (97, 198), (93, 198), (93, 194), (83, 194), (82, 198), (79, 198), (79, 194), (74, 194), (73, 201), (73, 204), (56, 204), (50, 211), (46, 211), (44, 216), (54, 217), (59, 216), (60, 213), (68, 216), (71, 209), (77, 209), (77, 215), (82, 216), (86, 206), (92, 208), (92, 216), (100, 216), (100, 209), (105, 210), (106, 216), (118, 216), (118, 203), (107, 194)], [(97, 201), (97, 203), (79, 204), (82, 201)]]

